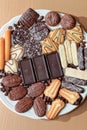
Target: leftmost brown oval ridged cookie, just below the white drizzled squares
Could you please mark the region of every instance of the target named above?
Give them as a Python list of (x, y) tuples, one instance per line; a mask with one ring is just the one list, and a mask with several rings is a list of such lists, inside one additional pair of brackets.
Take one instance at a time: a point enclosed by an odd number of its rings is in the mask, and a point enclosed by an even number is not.
[(21, 82), (22, 78), (15, 74), (5, 76), (2, 80), (2, 84), (4, 87), (15, 87), (18, 86)]

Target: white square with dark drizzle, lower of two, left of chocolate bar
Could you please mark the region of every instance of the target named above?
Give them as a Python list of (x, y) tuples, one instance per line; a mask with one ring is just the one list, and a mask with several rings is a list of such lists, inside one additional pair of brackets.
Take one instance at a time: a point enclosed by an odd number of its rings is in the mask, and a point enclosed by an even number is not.
[(9, 60), (8, 62), (5, 63), (5, 68), (4, 68), (6, 73), (17, 73), (18, 70), (18, 63), (16, 60)]

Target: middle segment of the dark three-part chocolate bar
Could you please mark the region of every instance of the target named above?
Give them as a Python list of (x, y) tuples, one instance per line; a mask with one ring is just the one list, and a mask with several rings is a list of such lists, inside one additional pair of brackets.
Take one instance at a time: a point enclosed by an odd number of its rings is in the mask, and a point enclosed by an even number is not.
[(35, 57), (32, 61), (37, 82), (48, 80), (49, 74), (44, 55)]

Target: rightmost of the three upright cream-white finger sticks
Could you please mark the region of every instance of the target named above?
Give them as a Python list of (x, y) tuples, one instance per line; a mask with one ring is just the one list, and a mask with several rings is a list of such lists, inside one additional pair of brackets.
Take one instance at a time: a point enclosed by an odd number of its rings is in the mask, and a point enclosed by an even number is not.
[(72, 52), (73, 64), (75, 66), (78, 66), (77, 44), (75, 43), (75, 41), (71, 42), (71, 52)]

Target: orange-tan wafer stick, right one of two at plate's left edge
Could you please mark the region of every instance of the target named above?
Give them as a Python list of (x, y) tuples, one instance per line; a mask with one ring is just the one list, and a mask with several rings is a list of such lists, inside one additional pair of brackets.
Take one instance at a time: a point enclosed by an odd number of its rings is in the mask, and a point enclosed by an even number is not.
[(11, 30), (5, 31), (5, 61), (10, 60)]

